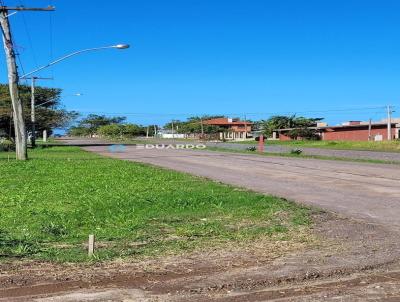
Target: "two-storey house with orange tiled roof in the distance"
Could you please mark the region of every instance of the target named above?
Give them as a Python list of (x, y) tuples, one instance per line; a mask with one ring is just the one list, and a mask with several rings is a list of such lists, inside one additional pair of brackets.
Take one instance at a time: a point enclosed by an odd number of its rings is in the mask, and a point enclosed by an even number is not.
[(246, 138), (252, 137), (252, 123), (248, 121), (221, 117), (205, 120), (203, 124), (218, 126), (224, 129), (224, 131), (221, 131), (219, 133), (219, 139), (221, 140), (244, 140)]

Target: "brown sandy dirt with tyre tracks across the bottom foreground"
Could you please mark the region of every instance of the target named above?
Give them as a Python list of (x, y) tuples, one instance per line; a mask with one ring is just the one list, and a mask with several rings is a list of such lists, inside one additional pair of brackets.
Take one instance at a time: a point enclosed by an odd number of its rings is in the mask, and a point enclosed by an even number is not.
[(362, 301), (399, 293), (396, 232), (329, 213), (314, 220), (320, 240), (278, 254), (254, 242), (94, 266), (2, 263), (0, 301)]

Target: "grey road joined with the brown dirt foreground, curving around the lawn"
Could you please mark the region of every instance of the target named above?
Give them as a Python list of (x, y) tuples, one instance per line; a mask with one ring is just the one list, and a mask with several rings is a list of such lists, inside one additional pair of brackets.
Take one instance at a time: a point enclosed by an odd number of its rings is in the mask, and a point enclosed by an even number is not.
[[(262, 245), (149, 262), (0, 263), (0, 301), (399, 301), (396, 165), (191, 151), (86, 150), (208, 177), (340, 213), (315, 213), (321, 245), (271, 258)], [(106, 171), (105, 171), (106, 173)]]

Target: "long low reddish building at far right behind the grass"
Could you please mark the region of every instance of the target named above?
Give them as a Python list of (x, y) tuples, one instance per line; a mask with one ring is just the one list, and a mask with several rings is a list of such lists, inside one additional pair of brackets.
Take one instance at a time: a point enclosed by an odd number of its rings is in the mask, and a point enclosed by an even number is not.
[[(338, 126), (317, 125), (314, 129), (321, 140), (326, 141), (383, 141), (388, 139), (387, 123), (349, 121)], [(275, 132), (279, 140), (291, 140), (289, 133), (293, 129), (278, 129)], [(400, 138), (400, 124), (391, 123), (391, 139)]]

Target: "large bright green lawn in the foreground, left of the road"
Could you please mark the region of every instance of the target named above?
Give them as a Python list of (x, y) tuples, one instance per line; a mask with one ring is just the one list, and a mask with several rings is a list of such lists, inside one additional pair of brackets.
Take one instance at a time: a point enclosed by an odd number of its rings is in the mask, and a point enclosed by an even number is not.
[[(310, 210), (184, 173), (76, 147), (0, 152), (0, 259), (160, 256), (228, 242), (306, 240)], [(14, 154), (11, 154), (11, 158)], [(307, 237), (307, 236), (306, 236)]]

